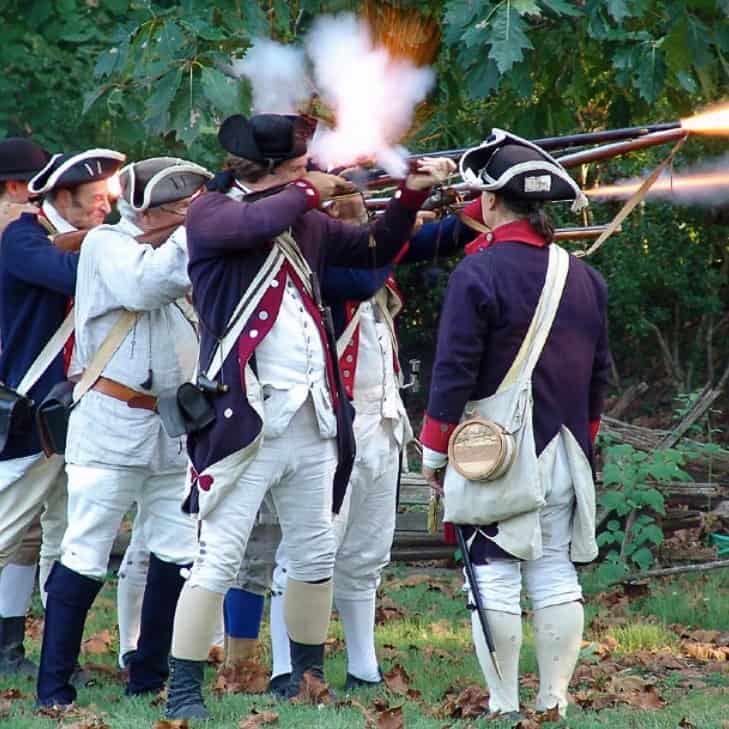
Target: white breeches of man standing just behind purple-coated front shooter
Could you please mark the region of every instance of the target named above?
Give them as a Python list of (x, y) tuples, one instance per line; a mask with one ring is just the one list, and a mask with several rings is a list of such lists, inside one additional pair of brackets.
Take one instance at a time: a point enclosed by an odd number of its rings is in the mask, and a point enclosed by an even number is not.
[(390, 561), (395, 533), (400, 450), (392, 421), (355, 403), (357, 460), (341, 511), (334, 519), (337, 557), (334, 597), (365, 599), (375, 594)]

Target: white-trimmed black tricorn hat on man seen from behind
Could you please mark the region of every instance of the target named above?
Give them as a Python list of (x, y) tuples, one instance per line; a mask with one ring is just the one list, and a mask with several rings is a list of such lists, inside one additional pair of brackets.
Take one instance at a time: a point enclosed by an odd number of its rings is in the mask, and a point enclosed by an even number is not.
[(471, 187), (505, 197), (572, 200), (574, 211), (588, 204), (579, 185), (554, 157), (503, 129), (492, 129), (488, 139), (466, 150), (461, 157), (460, 171)]

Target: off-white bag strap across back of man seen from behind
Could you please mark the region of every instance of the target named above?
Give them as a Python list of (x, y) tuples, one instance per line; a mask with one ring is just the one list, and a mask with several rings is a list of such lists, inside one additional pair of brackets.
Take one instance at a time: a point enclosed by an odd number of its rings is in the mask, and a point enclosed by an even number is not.
[(527, 379), (532, 376), (552, 329), (554, 318), (557, 315), (559, 302), (562, 300), (562, 293), (567, 282), (569, 267), (569, 253), (556, 243), (550, 244), (547, 276), (537, 308), (534, 311), (534, 316), (519, 353), (516, 355), (516, 359), (506, 373), (501, 385), (499, 385), (497, 392), (501, 392), (513, 385), (517, 380)]

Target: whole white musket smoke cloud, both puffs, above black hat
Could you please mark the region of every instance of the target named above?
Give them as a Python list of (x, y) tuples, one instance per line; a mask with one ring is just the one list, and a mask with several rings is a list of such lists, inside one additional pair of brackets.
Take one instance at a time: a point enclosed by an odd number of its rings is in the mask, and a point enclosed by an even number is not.
[(233, 63), (251, 81), (254, 111), (296, 112), (316, 90), (337, 119), (334, 129), (319, 125), (309, 148), (322, 167), (372, 157), (389, 174), (404, 176), (406, 152), (395, 145), (432, 87), (433, 71), (376, 47), (367, 25), (352, 14), (319, 18), (304, 48), (256, 41)]

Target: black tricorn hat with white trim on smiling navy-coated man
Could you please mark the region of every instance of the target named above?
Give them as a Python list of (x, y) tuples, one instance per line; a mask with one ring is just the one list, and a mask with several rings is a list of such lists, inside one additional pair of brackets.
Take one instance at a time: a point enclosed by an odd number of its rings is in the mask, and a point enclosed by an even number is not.
[(54, 154), (50, 162), (30, 181), (28, 191), (41, 195), (58, 188), (78, 187), (111, 177), (126, 155), (113, 149), (88, 149), (85, 152)]

